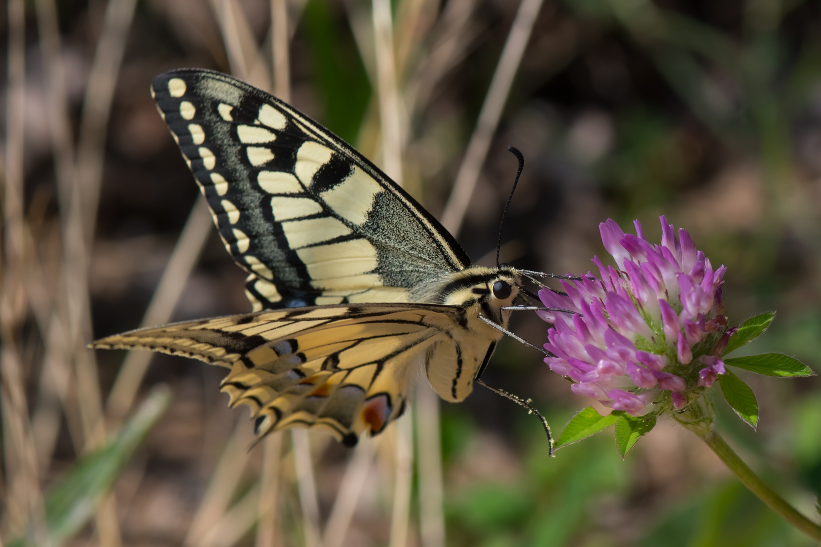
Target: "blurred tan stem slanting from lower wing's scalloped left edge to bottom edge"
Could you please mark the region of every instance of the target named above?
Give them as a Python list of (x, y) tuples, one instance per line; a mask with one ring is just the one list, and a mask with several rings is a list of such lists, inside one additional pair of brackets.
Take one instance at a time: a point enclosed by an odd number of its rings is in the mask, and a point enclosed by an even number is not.
[(214, 469), (200, 507), (188, 529), (183, 545), (200, 545), (205, 535), (226, 513), (239, 485), (245, 463), (248, 461), (248, 447), (254, 440), (250, 424), (245, 416), (240, 417), (231, 437), (228, 439), (217, 468)]

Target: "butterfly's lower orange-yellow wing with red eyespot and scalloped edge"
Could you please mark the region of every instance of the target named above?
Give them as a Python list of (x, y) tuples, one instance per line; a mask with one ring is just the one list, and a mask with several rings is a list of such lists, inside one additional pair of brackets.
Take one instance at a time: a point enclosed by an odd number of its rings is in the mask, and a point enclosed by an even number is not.
[(132, 330), (94, 347), (151, 349), (228, 367), (222, 390), (232, 406), (250, 407), (259, 435), (322, 426), (353, 444), (362, 431), (376, 434), (401, 415), (415, 365), (438, 369), (442, 381), (431, 381), (445, 399), (470, 393), (486, 348), (474, 351), (477, 344), (454, 337), (459, 313), (397, 303), (272, 310)]

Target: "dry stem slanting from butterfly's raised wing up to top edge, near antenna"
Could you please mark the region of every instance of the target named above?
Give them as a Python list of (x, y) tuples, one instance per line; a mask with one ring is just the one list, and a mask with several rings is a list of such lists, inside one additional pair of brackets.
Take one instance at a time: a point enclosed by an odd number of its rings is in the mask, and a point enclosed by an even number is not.
[(502, 109), (507, 102), (513, 78), (519, 69), (521, 57), (530, 40), (536, 16), (542, 7), (543, 0), (522, 0), (516, 19), (513, 21), (507, 41), (502, 48), (502, 55), (493, 73), (488, 94), (484, 98), (482, 110), (479, 112), (479, 121), (470, 136), (465, 157), (462, 159), (456, 182), (453, 183), (451, 197), (442, 213), (442, 224), (453, 235), (459, 233), (461, 223), (465, 218), (467, 206), (479, 179), (479, 172), (488, 155), (490, 141), (502, 116)]

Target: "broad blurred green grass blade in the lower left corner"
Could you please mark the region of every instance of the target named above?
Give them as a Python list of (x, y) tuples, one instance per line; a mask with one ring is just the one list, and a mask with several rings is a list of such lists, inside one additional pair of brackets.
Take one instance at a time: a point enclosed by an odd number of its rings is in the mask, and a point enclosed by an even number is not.
[[(171, 404), (167, 385), (159, 385), (117, 436), (103, 448), (81, 458), (48, 490), (45, 499), (46, 526), (51, 545), (62, 545), (94, 516), (103, 496), (111, 490), (126, 463)], [(27, 540), (11, 542), (11, 547), (32, 545)]]

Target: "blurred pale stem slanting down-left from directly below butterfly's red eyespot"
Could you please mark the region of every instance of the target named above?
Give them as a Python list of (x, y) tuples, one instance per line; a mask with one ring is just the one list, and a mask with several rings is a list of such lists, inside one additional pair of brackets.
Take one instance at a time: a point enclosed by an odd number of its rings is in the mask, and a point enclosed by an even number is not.
[(362, 488), (373, 470), (376, 442), (369, 437), (363, 437), (354, 449), (325, 525), (323, 547), (342, 547)]

